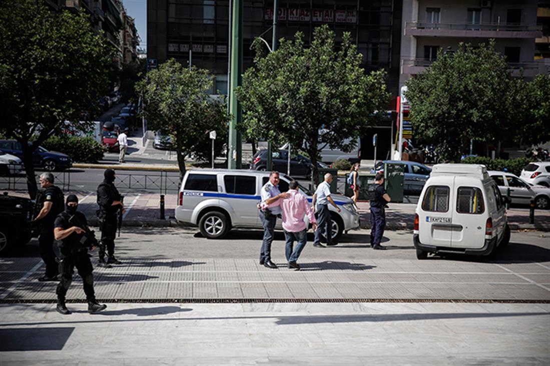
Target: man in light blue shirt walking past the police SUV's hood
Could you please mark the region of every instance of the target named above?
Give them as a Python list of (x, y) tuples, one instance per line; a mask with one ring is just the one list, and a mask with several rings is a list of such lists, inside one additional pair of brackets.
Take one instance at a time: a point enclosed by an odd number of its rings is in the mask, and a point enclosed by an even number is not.
[(326, 232), (325, 237), (327, 238), (327, 246), (338, 245), (338, 243), (332, 241), (332, 219), (331, 211), (328, 210), (328, 204), (333, 205), (338, 212), (341, 210), (332, 200), (331, 183), (332, 174), (324, 174), (324, 182), (318, 185), (311, 200), (313, 212), (317, 213), (317, 230), (315, 230), (315, 241), (313, 241), (313, 246), (318, 248), (324, 248), (321, 244), (321, 233), (323, 231)]

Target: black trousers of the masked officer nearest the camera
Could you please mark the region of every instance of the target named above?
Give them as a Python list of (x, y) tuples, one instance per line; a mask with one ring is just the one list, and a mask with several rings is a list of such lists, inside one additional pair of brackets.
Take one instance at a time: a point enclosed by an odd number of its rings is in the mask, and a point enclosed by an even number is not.
[(59, 263), (61, 280), (59, 280), (56, 289), (58, 299), (65, 300), (65, 295), (67, 295), (69, 286), (73, 282), (74, 267), (76, 267), (78, 274), (82, 278), (86, 299), (89, 301), (95, 300), (94, 275), (92, 274), (94, 268), (86, 250), (63, 256)]

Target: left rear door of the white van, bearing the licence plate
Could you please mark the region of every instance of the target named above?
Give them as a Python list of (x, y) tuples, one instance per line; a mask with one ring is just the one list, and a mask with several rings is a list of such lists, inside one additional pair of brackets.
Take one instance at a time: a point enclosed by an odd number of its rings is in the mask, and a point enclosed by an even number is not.
[(419, 215), (419, 239), (426, 245), (450, 247), (452, 217), (449, 209), (453, 181), (450, 185), (432, 184), (422, 197)]

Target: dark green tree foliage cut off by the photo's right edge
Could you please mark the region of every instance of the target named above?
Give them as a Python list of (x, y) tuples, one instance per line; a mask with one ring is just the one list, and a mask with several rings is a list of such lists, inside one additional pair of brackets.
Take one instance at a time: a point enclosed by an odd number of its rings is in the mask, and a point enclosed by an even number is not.
[(550, 141), (550, 75), (541, 74), (531, 82), (520, 82), (518, 90), (526, 112), (518, 120), (516, 142), (537, 145)]

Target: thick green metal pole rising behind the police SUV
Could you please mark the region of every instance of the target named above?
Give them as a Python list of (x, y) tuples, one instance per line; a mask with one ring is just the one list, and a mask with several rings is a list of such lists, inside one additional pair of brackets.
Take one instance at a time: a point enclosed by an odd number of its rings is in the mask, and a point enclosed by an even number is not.
[(227, 167), (239, 169), (241, 167), (241, 140), (237, 132), (237, 125), (241, 117), (240, 104), (235, 95), (235, 88), (241, 83), (241, 69), (243, 65), (243, 1), (233, 0), (233, 12), (231, 20), (231, 72), (229, 94), (229, 112), (232, 115), (229, 122), (229, 151)]

